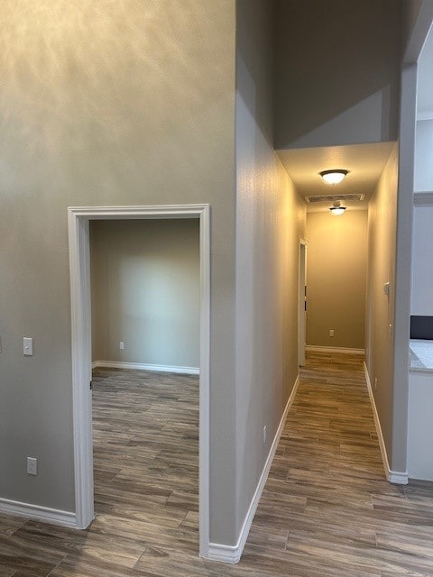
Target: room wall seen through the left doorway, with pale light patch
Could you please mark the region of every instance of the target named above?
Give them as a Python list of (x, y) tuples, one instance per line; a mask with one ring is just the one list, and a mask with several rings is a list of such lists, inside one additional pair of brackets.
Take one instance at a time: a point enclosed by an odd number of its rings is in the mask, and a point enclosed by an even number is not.
[(198, 220), (95, 220), (90, 239), (92, 360), (198, 368)]

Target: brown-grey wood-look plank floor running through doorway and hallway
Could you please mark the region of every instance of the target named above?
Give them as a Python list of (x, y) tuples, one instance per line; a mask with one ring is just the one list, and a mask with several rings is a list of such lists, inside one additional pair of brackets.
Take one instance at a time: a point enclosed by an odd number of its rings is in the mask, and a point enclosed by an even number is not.
[(0, 577), (433, 576), (433, 484), (384, 479), (362, 360), (309, 354), (237, 565), (198, 552), (198, 378), (99, 370), (86, 531), (0, 516)]

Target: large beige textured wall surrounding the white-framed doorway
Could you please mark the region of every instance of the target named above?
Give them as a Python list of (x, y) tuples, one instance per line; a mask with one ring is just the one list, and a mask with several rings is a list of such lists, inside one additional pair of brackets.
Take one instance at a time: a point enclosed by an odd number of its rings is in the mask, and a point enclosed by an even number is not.
[(233, 542), (235, 3), (4, 0), (0, 76), (0, 498), (75, 510), (68, 206), (209, 203), (210, 534)]

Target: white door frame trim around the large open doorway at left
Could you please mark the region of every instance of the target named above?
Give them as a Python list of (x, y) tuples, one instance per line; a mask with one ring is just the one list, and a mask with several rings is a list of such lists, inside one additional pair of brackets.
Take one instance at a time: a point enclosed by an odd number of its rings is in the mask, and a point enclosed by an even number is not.
[(200, 228), (199, 554), (209, 547), (210, 206), (69, 206), (72, 403), (77, 527), (94, 518), (89, 221), (198, 218)]

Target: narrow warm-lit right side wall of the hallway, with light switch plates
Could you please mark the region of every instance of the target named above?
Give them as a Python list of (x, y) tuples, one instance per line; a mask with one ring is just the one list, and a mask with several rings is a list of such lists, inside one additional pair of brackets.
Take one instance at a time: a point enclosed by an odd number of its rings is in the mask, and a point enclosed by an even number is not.
[[(368, 209), (367, 370), (388, 458), (392, 452), (393, 322), (398, 147), (395, 145)], [(390, 283), (390, 294), (383, 290)], [(409, 322), (409, 319), (408, 319)], [(409, 351), (409, 349), (408, 349)], [(409, 355), (409, 353), (408, 353)], [(377, 379), (377, 385), (374, 382)]]

